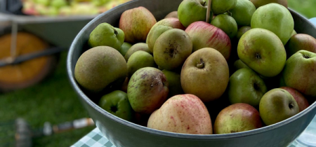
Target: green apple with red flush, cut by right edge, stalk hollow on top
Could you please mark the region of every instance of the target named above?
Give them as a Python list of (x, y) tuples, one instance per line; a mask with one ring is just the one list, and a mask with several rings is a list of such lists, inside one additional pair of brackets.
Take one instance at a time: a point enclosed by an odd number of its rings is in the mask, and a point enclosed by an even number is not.
[(316, 97), (316, 53), (299, 50), (287, 59), (282, 72), (284, 84)]

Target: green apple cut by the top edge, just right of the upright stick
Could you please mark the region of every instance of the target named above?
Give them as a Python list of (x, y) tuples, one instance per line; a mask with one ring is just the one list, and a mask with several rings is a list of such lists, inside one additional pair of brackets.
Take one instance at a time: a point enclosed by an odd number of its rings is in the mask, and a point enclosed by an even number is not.
[(237, 0), (212, 0), (211, 10), (214, 14), (219, 15), (235, 8)]

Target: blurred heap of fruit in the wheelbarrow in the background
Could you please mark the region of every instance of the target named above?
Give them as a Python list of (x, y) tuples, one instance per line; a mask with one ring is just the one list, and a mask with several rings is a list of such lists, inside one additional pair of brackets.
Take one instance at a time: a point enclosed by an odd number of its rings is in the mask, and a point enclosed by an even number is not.
[(22, 0), (27, 15), (98, 15), (130, 0)]

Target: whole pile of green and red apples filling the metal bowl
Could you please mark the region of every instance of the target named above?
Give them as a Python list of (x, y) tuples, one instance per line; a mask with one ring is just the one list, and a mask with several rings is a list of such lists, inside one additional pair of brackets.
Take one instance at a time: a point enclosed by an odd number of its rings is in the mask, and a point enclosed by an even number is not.
[(315, 102), (316, 39), (297, 34), (286, 3), (184, 0), (157, 22), (144, 7), (101, 23), (74, 77), (124, 120), (184, 134), (278, 123)]

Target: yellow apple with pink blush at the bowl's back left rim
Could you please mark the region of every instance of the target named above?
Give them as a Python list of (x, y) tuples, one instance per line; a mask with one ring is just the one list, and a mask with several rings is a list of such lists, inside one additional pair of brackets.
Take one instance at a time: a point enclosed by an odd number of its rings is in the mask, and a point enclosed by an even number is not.
[(154, 15), (143, 6), (124, 11), (119, 20), (119, 29), (125, 33), (128, 43), (145, 42), (147, 34), (157, 22)]

